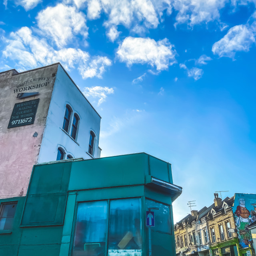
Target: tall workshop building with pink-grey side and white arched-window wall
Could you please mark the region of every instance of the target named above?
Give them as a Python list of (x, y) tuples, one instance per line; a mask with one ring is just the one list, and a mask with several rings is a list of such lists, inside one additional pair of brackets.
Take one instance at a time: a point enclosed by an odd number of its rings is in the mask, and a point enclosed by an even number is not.
[(0, 73), (0, 196), (26, 194), (34, 164), (99, 158), (100, 115), (60, 63)]

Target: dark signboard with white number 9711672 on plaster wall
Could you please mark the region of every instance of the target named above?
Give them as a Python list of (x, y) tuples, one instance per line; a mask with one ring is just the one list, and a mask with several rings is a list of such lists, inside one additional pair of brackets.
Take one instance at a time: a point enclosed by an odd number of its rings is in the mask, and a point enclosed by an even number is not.
[(8, 128), (34, 124), (39, 99), (16, 103), (12, 110), (12, 116)]

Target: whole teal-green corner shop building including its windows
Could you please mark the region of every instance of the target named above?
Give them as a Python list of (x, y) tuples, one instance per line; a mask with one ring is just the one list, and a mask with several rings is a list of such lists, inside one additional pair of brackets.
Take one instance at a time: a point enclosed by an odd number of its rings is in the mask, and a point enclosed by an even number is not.
[(171, 165), (145, 153), (35, 165), (0, 199), (1, 256), (174, 256)]

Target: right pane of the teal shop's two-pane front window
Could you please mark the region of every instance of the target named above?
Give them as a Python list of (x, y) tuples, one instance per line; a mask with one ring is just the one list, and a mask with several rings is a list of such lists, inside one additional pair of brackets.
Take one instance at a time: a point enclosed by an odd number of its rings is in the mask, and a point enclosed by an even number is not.
[(140, 198), (110, 201), (108, 256), (142, 255)]

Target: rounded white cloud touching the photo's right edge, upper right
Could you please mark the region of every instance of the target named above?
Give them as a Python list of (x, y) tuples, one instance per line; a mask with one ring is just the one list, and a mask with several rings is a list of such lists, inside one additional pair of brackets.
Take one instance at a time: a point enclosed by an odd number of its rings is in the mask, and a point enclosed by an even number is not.
[(248, 52), (255, 42), (254, 33), (247, 25), (238, 25), (230, 28), (228, 33), (214, 43), (212, 52), (220, 57), (234, 58), (236, 52)]

